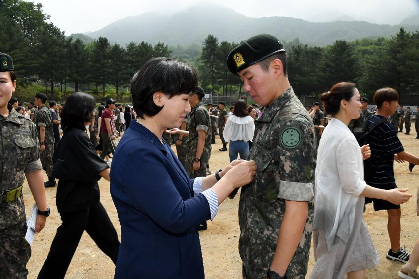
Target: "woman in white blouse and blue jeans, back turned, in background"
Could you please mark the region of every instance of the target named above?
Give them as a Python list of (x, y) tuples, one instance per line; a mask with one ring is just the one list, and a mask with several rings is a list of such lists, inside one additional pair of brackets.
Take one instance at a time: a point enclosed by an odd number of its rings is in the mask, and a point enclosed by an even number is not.
[(247, 114), (246, 104), (243, 101), (238, 101), (234, 105), (234, 112), (227, 118), (223, 135), (226, 142), (230, 141), (228, 149), (230, 162), (237, 159), (239, 154), (241, 159), (245, 159), (249, 153), (248, 141), (253, 140), (254, 123), (253, 118)]

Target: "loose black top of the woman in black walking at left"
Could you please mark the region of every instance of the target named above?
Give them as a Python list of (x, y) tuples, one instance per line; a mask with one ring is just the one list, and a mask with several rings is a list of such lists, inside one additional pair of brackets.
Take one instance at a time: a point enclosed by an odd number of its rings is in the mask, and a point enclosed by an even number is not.
[(109, 166), (95, 152), (89, 136), (69, 127), (54, 153), (58, 212), (79, 211), (99, 202), (99, 173)]

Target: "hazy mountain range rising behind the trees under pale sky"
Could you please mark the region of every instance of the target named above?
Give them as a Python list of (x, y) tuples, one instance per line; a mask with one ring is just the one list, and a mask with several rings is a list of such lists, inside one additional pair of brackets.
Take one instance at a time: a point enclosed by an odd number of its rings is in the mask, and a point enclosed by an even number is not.
[[(348, 20), (347, 17), (342, 18)], [(144, 13), (115, 21), (89, 36), (105, 36), (110, 42), (125, 45), (131, 41), (169, 45), (202, 44), (208, 34), (219, 41), (240, 42), (258, 33), (270, 33), (280, 40), (324, 46), (336, 40), (389, 37), (401, 25), (379, 25), (364, 21), (308, 22), (291, 17), (251, 18), (219, 4), (200, 4), (172, 15)], [(407, 31), (419, 30), (419, 24), (406, 25)]]

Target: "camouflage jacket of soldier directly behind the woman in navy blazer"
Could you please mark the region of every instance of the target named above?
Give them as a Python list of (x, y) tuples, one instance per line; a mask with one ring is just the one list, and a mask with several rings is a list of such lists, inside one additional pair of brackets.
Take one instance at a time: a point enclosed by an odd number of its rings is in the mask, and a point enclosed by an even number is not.
[(198, 130), (205, 131), (205, 145), (202, 152), (201, 161), (208, 162), (211, 155), (211, 121), (210, 113), (202, 105), (198, 103), (190, 113), (189, 119), (189, 139), (186, 144), (187, 154), (191, 158), (195, 158), (198, 147)]

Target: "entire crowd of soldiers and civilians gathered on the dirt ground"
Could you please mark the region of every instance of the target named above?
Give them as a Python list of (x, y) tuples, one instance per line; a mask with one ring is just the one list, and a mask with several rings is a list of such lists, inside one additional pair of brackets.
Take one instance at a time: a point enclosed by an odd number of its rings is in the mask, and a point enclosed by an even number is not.
[[(377, 90), (374, 114), (356, 85), (346, 82), (304, 107), (289, 84), (282, 44), (260, 34), (227, 58), (252, 106), (239, 100), (230, 112), (224, 102), (206, 107), (190, 64), (153, 58), (132, 78), (132, 106), (108, 98), (96, 107), (91, 95), (72, 93), (64, 105), (49, 100), (47, 108), (47, 96), (37, 93), (26, 110), (12, 96), (12, 58), (0, 53), (0, 59), (5, 278), (28, 275), (24, 176), (38, 208), (36, 233), (50, 214), (45, 187), (57, 186), (58, 179), (62, 224), (38, 278), (65, 277), (84, 231), (116, 265), (117, 279), (204, 278), (198, 231), (207, 229), (207, 220), (240, 187), (244, 279), (305, 278), (312, 234), (311, 279), (364, 278), (380, 261), (363, 221), (365, 203), (371, 202), (388, 214), (386, 258), (405, 263), (401, 278), (418, 278), (419, 242), (412, 256), (400, 247), (400, 204), (412, 194), (397, 187), (393, 162), (408, 161), (413, 171), (419, 157), (397, 137), (404, 127), (410, 134), (412, 114), (399, 107), (396, 90)], [(418, 121), (415, 126), (419, 138)], [(209, 161), (217, 134), (219, 151), (229, 152), (230, 163), (213, 173)], [(102, 177), (110, 181), (121, 242), (100, 202)]]

